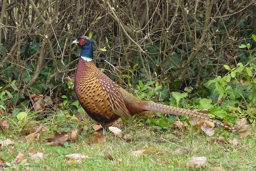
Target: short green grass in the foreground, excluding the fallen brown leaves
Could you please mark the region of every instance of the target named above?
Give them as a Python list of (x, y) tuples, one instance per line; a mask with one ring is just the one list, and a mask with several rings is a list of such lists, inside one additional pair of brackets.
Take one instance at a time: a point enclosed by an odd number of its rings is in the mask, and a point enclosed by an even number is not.
[[(47, 126), (47, 125), (46, 125)], [(240, 139), (239, 135), (231, 132), (216, 130), (212, 137), (206, 136), (202, 130), (196, 130), (189, 126), (186, 130), (156, 131), (149, 125), (126, 124), (122, 128), (124, 134), (132, 134), (132, 142), (124, 142), (121, 138), (111, 133), (107, 134), (106, 142), (88, 145), (91, 138), (89, 131), (83, 132), (76, 142), (65, 143), (62, 146), (50, 146), (44, 142), (49, 138), (52, 130), (44, 132), (40, 141), (26, 142), (22, 133), (0, 132), (0, 139), (6, 138), (14, 141), (14, 153), (8, 150), (11, 146), (0, 148), (0, 158), (3, 158), (9, 167), (3, 170), (47, 170), (47, 171), (199, 171), (200, 168), (188, 168), (186, 163), (191, 157), (204, 156), (209, 163), (204, 170), (214, 170), (214, 167), (222, 166), (226, 171), (253, 171), (256, 170), (256, 137)], [(218, 137), (226, 136), (227, 139), (238, 139), (240, 144), (231, 146), (228, 143), (219, 143)], [(176, 137), (169, 141), (168, 138)], [(35, 151), (42, 151), (44, 159), (35, 161), (28, 157), (27, 163), (18, 165), (11, 163), (22, 151), (26, 156), (28, 149), (34, 147)], [(130, 151), (146, 148), (144, 153), (135, 157)], [(80, 153), (88, 155), (88, 159), (82, 159), (82, 163), (68, 162), (65, 155)], [(114, 159), (106, 159), (104, 156), (111, 155)], [(246, 165), (250, 166), (246, 169)]]

